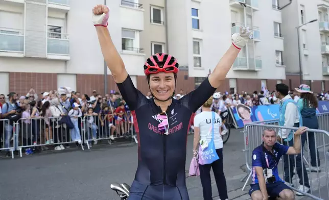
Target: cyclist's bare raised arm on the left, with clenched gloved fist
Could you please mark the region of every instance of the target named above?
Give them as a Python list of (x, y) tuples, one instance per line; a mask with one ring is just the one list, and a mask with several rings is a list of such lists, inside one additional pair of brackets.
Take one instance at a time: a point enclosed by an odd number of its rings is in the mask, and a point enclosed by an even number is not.
[(128, 73), (107, 29), (109, 8), (105, 5), (97, 5), (93, 8), (92, 12), (92, 22), (96, 27), (98, 40), (107, 67), (110, 69), (115, 83), (122, 83), (127, 79)]

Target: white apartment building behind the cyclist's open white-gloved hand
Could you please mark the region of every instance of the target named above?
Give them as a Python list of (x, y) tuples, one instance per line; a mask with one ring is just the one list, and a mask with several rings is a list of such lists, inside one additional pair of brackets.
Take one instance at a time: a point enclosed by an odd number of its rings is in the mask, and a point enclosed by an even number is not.
[(181, 65), (189, 66), (196, 86), (216, 67), (230, 46), (231, 34), (241, 26), (253, 30), (254, 40), (242, 49), (219, 90), (254, 91), (260, 90), (262, 83), (274, 89), (286, 78), (285, 67), (277, 59), (284, 52), (284, 38), (278, 32), (281, 12), (272, 2), (168, 0), (167, 7), (169, 52)]

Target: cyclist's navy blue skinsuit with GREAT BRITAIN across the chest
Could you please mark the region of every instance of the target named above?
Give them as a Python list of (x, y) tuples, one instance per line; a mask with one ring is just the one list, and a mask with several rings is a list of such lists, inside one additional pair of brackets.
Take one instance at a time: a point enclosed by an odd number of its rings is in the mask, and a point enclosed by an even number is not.
[(194, 113), (213, 95), (208, 78), (167, 109), (169, 135), (160, 134), (156, 115), (161, 113), (154, 99), (138, 91), (130, 77), (117, 84), (132, 110), (138, 138), (138, 167), (129, 200), (189, 200), (185, 184), (187, 133)]

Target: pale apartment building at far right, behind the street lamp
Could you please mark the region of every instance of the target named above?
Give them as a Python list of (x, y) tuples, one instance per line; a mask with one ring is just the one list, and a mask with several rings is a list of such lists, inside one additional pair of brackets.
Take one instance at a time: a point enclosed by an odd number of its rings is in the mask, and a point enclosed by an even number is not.
[[(287, 3), (288, 0), (281, 0), (279, 6)], [(282, 10), (284, 20), (281, 29), (285, 37), (283, 61), (286, 84), (290, 88), (300, 84), (300, 63), (302, 83), (310, 85), (317, 92), (329, 90), (328, 8), (329, 1), (296, 0)]]

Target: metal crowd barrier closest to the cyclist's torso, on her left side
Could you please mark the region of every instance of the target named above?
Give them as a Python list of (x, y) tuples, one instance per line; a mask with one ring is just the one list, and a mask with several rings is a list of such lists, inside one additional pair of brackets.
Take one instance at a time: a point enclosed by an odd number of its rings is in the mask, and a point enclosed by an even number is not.
[(113, 139), (134, 138), (132, 117), (129, 120), (127, 120), (127, 117), (124, 117), (119, 120), (114, 118), (108, 120), (106, 118), (104, 121), (101, 121), (98, 115), (84, 116), (82, 126), (84, 141), (88, 149), (90, 149), (92, 141), (94, 144), (97, 144), (99, 140), (106, 139), (111, 144)]

